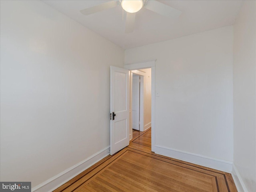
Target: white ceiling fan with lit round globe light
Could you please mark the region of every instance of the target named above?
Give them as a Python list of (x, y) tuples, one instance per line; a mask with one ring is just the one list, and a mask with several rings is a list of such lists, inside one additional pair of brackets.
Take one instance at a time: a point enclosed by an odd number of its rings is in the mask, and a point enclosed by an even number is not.
[(126, 11), (125, 33), (133, 32), (136, 12), (142, 7), (170, 18), (178, 18), (182, 13), (180, 10), (156, 0), (112, 0), (80, 10), (80, 12), (84, 15), (90, 15), (120, 5)]

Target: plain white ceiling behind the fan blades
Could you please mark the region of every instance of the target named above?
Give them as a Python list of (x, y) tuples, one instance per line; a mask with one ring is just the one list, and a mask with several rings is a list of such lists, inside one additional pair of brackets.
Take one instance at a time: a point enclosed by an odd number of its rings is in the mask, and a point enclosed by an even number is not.
[(170, 19), (145, 8), (136, 13), (134, 32), (126, 34), (122, 7), (118, 6), (89, 16), (79, 11), (104, 0), (43, 0), (66, 16), (100, 34), (124, 49), (186, 36), (234, 24), (242, 0), (160, 0), (182, 11)]

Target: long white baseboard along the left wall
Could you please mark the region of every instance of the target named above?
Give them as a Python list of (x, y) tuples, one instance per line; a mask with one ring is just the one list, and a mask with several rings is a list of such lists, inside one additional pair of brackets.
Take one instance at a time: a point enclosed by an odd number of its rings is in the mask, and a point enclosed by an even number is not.
[(110, 146), (100, 150), (99, 152), (93, 154), (78, 164), (64, 170), (63, 172), (46, 180), (45, 182), (42, 182), (38, 186), (33, 187), (32, 192), (51, 192), (55, 190), (56, 188), (62, 186), (64, 183), (68, 182), (70, 179), (82, 173), (84, 170), (88, 169), (90, 166), (94, 165), (96, 162), (108, 156), (110, 154), (109, 150)]

